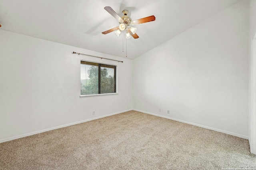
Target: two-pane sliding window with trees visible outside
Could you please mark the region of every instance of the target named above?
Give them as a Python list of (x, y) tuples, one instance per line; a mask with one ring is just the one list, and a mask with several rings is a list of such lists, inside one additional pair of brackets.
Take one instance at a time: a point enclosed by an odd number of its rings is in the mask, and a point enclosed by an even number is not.
[(116, 93), (116, 66), (87, 61), (80, 65), (81, 95)]

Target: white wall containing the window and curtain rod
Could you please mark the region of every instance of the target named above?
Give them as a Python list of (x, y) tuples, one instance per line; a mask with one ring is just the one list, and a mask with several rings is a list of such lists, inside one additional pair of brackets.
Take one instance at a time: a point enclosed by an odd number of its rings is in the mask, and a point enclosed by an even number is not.
[[(132, 60), (4, 30), (0, 37), (0, 142), (132, 109)], [(119, 94), (80, 98), (81, 59), (117, 65)]]

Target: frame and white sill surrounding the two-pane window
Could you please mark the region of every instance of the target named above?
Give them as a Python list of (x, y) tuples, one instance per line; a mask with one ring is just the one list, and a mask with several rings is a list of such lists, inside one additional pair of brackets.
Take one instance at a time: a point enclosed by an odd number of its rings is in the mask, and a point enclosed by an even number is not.
[[(89, 61), (89, 60), (80, 60), (80, 66), (81, 66), (81, 62), (91, 62), (91, 63), (95, 63), (98, 64), (98, 93), (97, 94), (81, 94), (81, 86), (80, 86), (80, 97), (87, 97), (87, 96), (106, 96), (106, 95), (116, 95), (118, 94), (118, 88), (117, 88), (117, 66), (114, 64), (106, 64), (106, 63), (100, 63), (100, 62), (94, 62), (94, 61)], [(105, 65), (105, 66), (114, 66), (114, 93), (100, 93), (100, 68), (101, 65)], [(104, 66), (102, 66), (104, 67)], [(80, 70), (80, 82), (81, 82), (81, 70)]]

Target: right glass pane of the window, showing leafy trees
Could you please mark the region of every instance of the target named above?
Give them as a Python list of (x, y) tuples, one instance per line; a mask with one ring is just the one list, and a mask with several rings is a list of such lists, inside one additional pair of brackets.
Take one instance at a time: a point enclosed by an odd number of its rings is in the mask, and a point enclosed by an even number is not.
[(115, 92), (115, 66), (101, 64), (100, 67), (100, 93)]

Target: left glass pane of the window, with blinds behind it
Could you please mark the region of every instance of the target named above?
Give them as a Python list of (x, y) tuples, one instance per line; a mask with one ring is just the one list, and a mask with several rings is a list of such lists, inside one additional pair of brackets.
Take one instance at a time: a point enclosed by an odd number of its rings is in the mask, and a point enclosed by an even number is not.
[(81, 61), (81, 94), (98, 94), (98, 64)]

